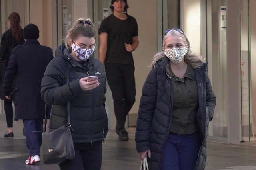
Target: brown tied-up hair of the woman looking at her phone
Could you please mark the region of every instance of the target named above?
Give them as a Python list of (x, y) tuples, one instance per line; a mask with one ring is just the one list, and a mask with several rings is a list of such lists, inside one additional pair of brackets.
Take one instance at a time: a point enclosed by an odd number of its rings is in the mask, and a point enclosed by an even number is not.
[(96, 31), (94, 29), (94, 24), (90, 18), (84, 19), (80, 18), (74, 23), (72, 28), (68, 31), (68, 35), (62, 40), (69, 51), (70, 50), (70, 40), (78, 39), (78, 37), (88, 37), (92, 38), (96, 36)]

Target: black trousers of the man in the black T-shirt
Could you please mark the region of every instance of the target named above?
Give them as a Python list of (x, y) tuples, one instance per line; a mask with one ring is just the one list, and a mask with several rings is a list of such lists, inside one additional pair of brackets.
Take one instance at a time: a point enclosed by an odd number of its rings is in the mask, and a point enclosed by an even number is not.
[(135, 102), (134, 64), (106, 63), (105, 69), (114, 100), (116, 128), (124, 129), (126, 116)]

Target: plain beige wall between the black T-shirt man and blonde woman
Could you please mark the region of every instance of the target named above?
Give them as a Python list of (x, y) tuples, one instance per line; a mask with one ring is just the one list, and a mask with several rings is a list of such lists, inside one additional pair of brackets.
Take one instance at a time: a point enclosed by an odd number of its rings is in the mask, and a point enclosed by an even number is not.
[[(138, 23), (138, 48), (132, 52), (135, 65), (136, 102), (130, 113), (138, 113), (142, 85), (150, 71), (150, 63), (157, 52), (156, 0), (129, 0), (128, 14)], [(145, 6), (145, 4), (151, 4)], [(142, 15), (143, 14), (143, 15)]]

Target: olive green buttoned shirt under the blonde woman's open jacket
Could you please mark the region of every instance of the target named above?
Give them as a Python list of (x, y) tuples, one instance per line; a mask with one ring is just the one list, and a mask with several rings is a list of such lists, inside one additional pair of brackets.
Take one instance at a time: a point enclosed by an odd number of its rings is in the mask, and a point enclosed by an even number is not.
[(172, 80), (173, 105), (170, 132), (182, 135), (198, 131), (196, 112), (198, 110), (198, 91), (194, 70), (188, 63), (188, 68), (181, 79), (174, 75), (170, 63), (166, 66), (166, 74)]

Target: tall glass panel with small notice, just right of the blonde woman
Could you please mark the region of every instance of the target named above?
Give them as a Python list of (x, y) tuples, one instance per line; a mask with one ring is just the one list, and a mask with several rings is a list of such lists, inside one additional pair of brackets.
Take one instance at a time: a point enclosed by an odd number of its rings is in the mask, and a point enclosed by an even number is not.
[[(214, 119), (209, 127), (209, 136), (225, 141), (228, 137), (228, 84), (227, 81), (227, 50), (225, 16), (222, 9), (226, 6), (226, 0), (208, 0), (207, 13), (207, 54), (208, 70), (211, 70), (212, 86), (216, 94), (217, 103)], [(223, 140), (222, 140), (223, 139)], [(217, 141), (217, 140), (216, 140)]]

